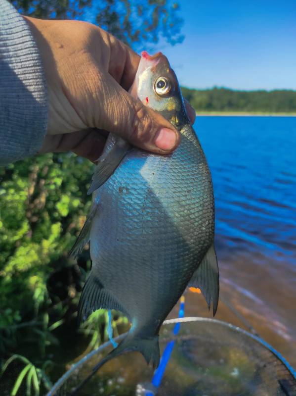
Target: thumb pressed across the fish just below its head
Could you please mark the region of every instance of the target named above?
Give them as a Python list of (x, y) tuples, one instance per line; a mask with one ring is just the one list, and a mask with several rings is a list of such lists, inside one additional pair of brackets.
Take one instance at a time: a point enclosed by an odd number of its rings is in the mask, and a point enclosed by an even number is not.
[[(104, 83), (96, 128), (121, 136), (134, 146), (156, 153), (168, 153), (178, 146), (178, 131), (161, 114), (134, 99), (111, 76)], [(97, 104), (96, 104), (97, 106)]]

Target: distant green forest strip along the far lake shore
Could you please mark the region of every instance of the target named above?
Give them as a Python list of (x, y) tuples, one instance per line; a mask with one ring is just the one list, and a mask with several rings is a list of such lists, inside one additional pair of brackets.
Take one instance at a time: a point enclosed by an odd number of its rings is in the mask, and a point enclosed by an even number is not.
[(196, 111), (296, 113), (296, 91), (234, 91), (226, 88), (182, 88)]

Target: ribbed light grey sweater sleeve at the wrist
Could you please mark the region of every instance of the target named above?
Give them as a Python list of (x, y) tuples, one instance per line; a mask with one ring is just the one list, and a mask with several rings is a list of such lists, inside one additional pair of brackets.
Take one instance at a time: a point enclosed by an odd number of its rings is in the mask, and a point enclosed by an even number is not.
[(23, 17), (0, 0), (0, 165), (35, 154), (46, 129), (41, 56)]

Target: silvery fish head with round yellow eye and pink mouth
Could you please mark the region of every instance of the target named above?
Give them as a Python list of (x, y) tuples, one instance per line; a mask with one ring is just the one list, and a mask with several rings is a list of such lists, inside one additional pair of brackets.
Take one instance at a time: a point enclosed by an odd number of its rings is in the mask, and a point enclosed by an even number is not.
[(162, 52), (152, 56), (142, 52), (129, 93), (160, 112), (177, 129), (190, 122), (177, 77)]

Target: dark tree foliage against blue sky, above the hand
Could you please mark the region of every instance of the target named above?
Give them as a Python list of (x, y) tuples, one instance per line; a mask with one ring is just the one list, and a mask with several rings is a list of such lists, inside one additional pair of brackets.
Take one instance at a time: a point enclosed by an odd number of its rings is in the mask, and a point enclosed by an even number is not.
[(169, 44), (183, 41), (178, 3), (170, 0), (11, 0), (25, 15), (76, 19), (95, 23), (134, 49), (149, 49), (164, 37)]

